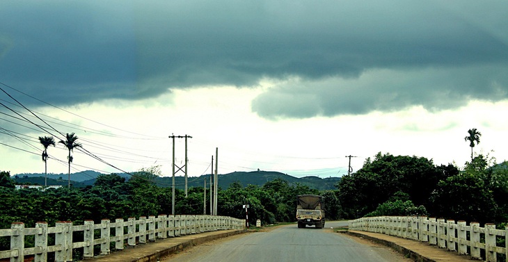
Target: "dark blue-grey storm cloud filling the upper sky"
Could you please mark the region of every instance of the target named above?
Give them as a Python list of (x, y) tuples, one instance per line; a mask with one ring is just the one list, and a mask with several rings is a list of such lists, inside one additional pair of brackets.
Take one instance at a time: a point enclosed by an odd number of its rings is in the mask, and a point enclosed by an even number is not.
[(266, 78), (300, 80), (253, 101), (264, 117), (507, 95), (505, 1), (34, 3), (0, 8), (0, 72), (54, 103)]

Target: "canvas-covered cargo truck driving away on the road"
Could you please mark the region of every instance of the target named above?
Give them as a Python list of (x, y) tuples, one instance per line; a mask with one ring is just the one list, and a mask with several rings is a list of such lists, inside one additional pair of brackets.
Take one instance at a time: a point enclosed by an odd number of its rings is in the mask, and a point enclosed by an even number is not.
[(320, 195), (298, 195), (296, 204), (296, 220), (298, 228), (315, 225), (316, 228), (324, 227), (324, 202)]

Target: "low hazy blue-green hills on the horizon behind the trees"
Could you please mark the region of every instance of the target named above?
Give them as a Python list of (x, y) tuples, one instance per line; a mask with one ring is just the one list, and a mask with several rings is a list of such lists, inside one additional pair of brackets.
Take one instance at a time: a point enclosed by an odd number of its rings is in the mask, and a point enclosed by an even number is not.
[[(79, 173), (70, 174), (71, 183), (75, 187), (91, 186), (95, 182), (95, 179), (101, 173), (95, 171), (84, 171)], [(125, 177), (126, 180), (130, 178), (129, 174), (120, 174)], [(17, 178), (16, 178), (17, 177)], [(67, 185), (68, 174), (48, 174), (48, 185)], [(31, 183), (44, 185), (44, 174), (16, 174), (13, 179), (17, 183)], [(202, 188), (204, 180), (207, 181), (207, 187), (209, 187), (210, 174), (205, 174), (200, 177), (188, 177), (188, 187)], [(268, 181), (274, 179), (284, 179), (290, 185), (296, 185), (300, 183), (309, 188), (317, 190), (334, 190), (336, 185), (340, 181), (340, 177), (328, 177), (322, 179), (319, 177), (292, 177), (288, 174), (275, 171), (253, 171), (253, 172), (232, 172), (229, 174), (219, 174), (219, 188), (227, 189), (231, 183), (238, 181), (242, 186), (255, 185), (263, 186)], [(171, 187), (173, 184), (172, 177), (157, 177), (155, 180), (157, 186)], [(175, 188), (185, 188), (185, 178), (182, 176), (175, 177)]]

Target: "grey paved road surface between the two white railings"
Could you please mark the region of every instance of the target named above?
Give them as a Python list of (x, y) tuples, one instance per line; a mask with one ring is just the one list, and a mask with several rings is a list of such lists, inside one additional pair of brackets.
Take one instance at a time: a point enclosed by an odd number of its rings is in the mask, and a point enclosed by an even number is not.
[(386, 247), (333, 233), (330, 229), (345, 223), (326, 222), (325, 229), (299, 229), (296, 224), (291, 224), (269, 231), (241, 234), (186, 249), (180, 254), (161, 259), (161, 262), (411, 261)]

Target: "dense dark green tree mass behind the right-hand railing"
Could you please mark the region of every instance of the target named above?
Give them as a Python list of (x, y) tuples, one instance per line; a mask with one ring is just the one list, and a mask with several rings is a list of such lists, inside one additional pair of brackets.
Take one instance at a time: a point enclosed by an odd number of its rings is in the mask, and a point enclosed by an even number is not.
[(508, 163), (479, 155), (462, 170), (427, 158), (377, 154), (338, 184), (342, 218), (430, 215), (486, 222), (508, 220)]

